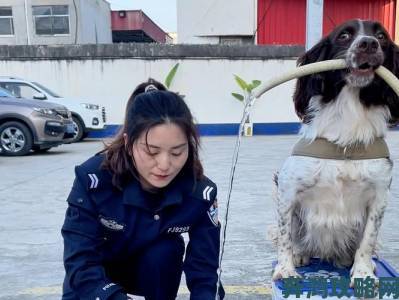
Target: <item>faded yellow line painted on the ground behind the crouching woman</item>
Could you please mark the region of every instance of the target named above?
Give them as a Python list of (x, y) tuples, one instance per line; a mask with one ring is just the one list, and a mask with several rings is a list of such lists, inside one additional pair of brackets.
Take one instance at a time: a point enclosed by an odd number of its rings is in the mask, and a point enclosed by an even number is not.
[[(226, 285), (223, 286), (226, 294), (228, 295), (270, 295), (271, 289), (269, 286), (263, 285)], [(62, 291), (61, 286), (48, 286), (48, 287), (34, 287), (22, 290), (18, 295), (60, 295)], [(189, 291), (186, 286), (180, 286), (180, 295), (188, 295)]]

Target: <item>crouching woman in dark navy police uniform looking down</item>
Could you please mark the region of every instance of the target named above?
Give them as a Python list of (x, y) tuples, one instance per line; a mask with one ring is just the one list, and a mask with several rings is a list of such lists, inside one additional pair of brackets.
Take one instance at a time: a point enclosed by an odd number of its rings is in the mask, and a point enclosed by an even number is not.
[(175, 299), (183, 270), (190, 299), (215, 299), (217, 190), (198, 148), (183, 99), (151, 79), (139, 85), (116, 139), (75, 168), (63, 300)]

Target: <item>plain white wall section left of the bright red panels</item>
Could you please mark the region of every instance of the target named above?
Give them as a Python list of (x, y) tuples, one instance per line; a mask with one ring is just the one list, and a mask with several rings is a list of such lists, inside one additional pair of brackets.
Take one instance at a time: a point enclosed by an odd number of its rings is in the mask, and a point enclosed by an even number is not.
[(179, 43), (217, 43), (218, 36), (252, 36), (256, 0), (177, 0)]

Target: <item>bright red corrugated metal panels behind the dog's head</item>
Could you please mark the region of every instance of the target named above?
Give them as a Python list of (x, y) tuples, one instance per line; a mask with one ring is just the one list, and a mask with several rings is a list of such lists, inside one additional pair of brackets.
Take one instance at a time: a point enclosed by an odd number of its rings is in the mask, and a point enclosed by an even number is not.
[[(324, 0), (323, 34), (354, 18), (381, 22), (395, 38), (396, 0)], [(258, 0), (258, 44), (304, 45), (306, 0)]]

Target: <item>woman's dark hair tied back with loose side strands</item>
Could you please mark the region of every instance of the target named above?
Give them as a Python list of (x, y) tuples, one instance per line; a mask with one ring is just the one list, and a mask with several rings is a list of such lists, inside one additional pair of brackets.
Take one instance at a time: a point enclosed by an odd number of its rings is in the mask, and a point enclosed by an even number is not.
[[(138, 178), (133, 163), (133, 144), (154, 126), (173, 123), (186, 134), (189, 152), (188, 159), (180, 171), (196, 179), (203, 176), (203, 167), (199, 160), (199, 136), (192, 114), (184, 100), (176, 93), (167, 91), (159, 82), (149, 79), (137, 86), (126, 105), (123, 127), (105, 149), (103, 168), (113, 174), (112, 183), (122, 189), (130, 180)], [(124, 134), (127, 135), (125, 143)]]

